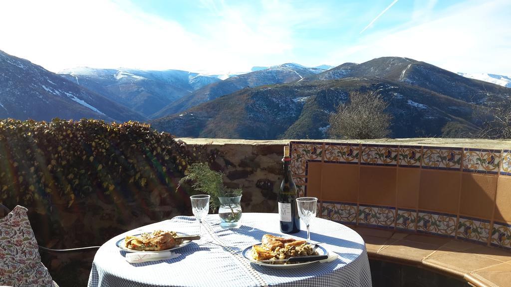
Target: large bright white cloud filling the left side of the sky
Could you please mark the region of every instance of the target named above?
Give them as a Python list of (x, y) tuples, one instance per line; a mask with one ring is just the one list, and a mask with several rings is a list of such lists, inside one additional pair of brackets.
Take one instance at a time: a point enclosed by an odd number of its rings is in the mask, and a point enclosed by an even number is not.
[(260, 11), (243, 2), (201, 4), (216, 21), (196, 34), (128, 0), (2, 2), (0, 49), (52, 71), (91, 66), (228, 73), (292, 58), (294, 27), (320, 14), (279, 1), (263, 2)]

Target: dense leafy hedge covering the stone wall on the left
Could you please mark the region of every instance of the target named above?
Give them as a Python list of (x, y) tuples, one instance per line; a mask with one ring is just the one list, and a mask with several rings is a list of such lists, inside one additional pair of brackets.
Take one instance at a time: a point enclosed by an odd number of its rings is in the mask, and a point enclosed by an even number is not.
[[(71, 207), (77, 197), (113, 201), (174, 193), (179, 178), (202, 151), (149, 125), (82, 119), (0, 121), (0, 203)], [(207, 160), (207, 158), (202, 158)]]

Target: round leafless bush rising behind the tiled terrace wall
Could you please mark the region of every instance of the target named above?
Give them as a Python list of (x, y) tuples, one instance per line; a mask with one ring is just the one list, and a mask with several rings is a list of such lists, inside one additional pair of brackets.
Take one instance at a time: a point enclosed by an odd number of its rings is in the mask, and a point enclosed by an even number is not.
[(375, 91), (351, 91), (350, 101), (330, 116), (332, 138), (368, 139), (389, 135), (392, 116), (385, 113), (388, 103)]

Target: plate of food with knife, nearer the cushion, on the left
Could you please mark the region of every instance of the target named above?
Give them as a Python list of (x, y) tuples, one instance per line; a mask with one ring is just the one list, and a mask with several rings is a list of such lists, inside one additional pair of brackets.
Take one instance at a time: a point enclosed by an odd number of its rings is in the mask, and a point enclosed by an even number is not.
[(115, 245), (127, 252), (166, 252), (189, 245), (199, 235), (189, 235), (175, 231), (155, 230), (151, 233), (128, 235)]

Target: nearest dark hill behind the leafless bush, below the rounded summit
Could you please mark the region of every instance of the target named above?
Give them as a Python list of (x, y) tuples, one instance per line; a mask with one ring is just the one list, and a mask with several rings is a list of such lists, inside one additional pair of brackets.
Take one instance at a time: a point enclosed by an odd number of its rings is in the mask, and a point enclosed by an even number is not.
[[(345, 78), (243, 89), (179, 115), (151, 121), (176, 136), (217, 138), (325, 138), (328, 117), (350, 90), (375, 90), (389, 103), (392, 137), (439, 136), (448, 122), (475, 129), (475, 104), (409, 83)], [(507, 89), (508, 95), (511, 89)]]

